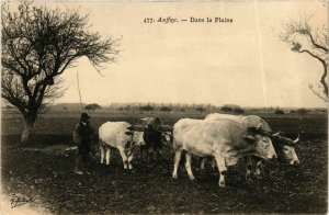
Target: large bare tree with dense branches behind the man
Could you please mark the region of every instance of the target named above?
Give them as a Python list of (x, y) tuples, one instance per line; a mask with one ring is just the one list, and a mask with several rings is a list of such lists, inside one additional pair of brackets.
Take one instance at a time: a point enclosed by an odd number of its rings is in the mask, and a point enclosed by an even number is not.
[(91, 33), (88, 15), (78, 11), (32, 7), (22, 1), (18, 11), (2, 4), (1, 97), (16, 106), (25, 122), (21, 142), (47, 103), (63, 95), (60, 75), (86, 56), (95, 69), (113, 63), (117, 39)]

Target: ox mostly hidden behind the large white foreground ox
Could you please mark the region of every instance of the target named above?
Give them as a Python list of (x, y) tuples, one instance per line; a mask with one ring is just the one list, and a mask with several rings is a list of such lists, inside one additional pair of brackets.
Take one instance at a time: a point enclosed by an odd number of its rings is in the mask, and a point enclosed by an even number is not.
[[(299, 163), (299, 160), (295, 152), (295, 147), (294, 147), (294, 145), (299, 140), (299, 136), (295, 140), (292, 140), (287, 137), (282, 137), (279, 133), (272, 135), (272, 129), (269, 126), (269, 124), (264, 120), (262, 120), (261, 117), (259, 117), (257, 115), (242, 116), (242, 115), (212, 113), (212, 114), (206, 115), (206, 117), (205, 117), (206, 121), (216, 121), (216, 120), (223, 120), (223, 118), (236, 121), (247, 127), (260, 125), (259, 128), (263, 133), (271, 136), (274, 149), (275, 149), (280, 160), (288, 162), (290, 165)], [(251, 174), (251, 169), (252, 169), (253, 165), (252, 165), (252, 158), (250, 156), (248, 156), (246, 160), (247, 160), (246, 179), (248, 180), (248, 178)], [(254, 169), (253, 173), (257, 177), (259, 177), (261, 173), (260, 166), (262, 163), (262, 160), (257, 157), (253, 157), (253, 160), (256, 162), (256, 167), (253, 168)], [(205, 162), (205, 159), (203, 159), (201, 162), (202, 170), (204, 169), (204, 162)], [(214, 167), (214, 161), (213, 161), (213, 167)]]

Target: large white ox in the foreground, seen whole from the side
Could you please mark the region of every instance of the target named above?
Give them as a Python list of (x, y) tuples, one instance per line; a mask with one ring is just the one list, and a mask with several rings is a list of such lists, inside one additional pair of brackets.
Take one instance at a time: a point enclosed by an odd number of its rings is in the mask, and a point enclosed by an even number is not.
[(258, 134), (256, 127), (246, 127), (231, 120), (203, 121), (182, 118), (173, 125), (174, 168), (172, 178), (177, 178), (182, 151), (185, 150), (185, 169), (194, 180), (191, 170), (191, 155), (215, 157), (219, 170), (219, 186), (225, 186), (224, 174), (228, 166), (237, 163), (248, 155), (263, 159), (276, 158), (271, 138)]

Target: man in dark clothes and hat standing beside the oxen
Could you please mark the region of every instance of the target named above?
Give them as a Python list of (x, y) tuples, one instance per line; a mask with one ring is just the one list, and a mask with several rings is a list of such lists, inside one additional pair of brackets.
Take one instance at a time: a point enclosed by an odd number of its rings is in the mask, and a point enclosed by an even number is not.
[(81, 120), (76, 125), (73, 132), (73, 142), (78, 146), (78, 155), (76, 159), (76, 169), (77, 174), (90, 174), (88, 171), (90, 158), (89, 152), (92, 146), (92, 135), (93, 129), (90, 126), (90, 116), (87, 113), (81, 113)]

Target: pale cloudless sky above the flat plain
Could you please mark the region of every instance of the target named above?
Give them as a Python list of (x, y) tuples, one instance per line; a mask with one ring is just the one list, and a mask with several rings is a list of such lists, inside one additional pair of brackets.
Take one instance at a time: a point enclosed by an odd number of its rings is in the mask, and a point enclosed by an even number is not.
[[(56, 103), (211, 103), (241, 106), (322, 108), (308, 89), (322, 72), (319, 61), (280, 41), (284, 23), (311, 15), (328, 26), (328, 1), (47, 3), (89, 14), (89, 31), (121, 38), (115, 64), (100, 76), (86, 57), (63, 75), (68, 88)], [(172, 24), (144, 19), (178, 19)], [(232, 23), (190, 22), (227, 18)], [(181, 20), (186, 19), (186, 22)], [(214, 21), (214, 20), (213, 20)]]

